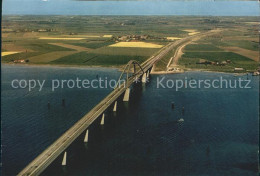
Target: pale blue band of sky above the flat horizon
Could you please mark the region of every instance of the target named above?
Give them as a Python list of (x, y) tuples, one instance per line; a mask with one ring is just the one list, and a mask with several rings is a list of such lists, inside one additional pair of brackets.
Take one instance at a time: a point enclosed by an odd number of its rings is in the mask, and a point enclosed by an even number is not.
[(259, 16), (258, 1), (3, 0), (4, 15)]

